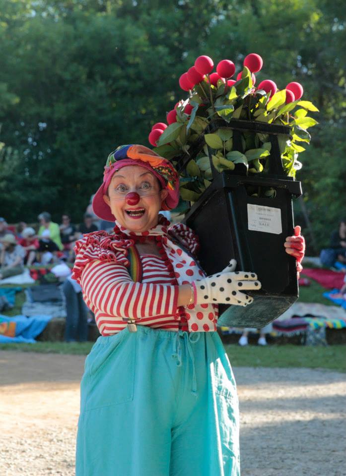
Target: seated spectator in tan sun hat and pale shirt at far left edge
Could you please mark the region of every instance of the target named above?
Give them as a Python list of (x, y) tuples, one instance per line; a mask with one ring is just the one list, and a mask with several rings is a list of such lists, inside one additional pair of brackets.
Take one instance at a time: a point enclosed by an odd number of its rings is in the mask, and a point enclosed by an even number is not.
[(1, 240), (0, 279), (21, 274), (24, 270), (25, 251), (16, 243), (14, 235), (8, 233)]

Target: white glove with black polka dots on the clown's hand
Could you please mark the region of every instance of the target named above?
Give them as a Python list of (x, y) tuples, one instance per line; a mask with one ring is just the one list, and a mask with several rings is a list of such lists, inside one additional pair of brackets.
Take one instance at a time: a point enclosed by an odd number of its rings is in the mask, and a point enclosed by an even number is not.
[(221, 273), (195, 281), (195, 285), (196, 304), (217, 302), (247, 306), (254, 299), (240, 291), (261, 289), (257, 275), (247, 271), (221, 271)]

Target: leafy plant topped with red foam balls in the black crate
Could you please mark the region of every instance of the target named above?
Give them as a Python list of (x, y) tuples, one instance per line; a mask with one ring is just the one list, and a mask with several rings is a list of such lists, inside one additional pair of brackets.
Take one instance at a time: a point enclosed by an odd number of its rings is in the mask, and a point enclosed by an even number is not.
[[(274, 81), (266, 79), (256, 88), (254, 73), (262, 68), (262, 64), (259, 55), (248, 55), (237, 80), (232, 80), (235, 73), (232, 61), (220, 61), (217, 73), (211, 73), (213, 61), (202, 56), (180, 77), (179, 84), (188, 91), (188, 98), (179, 101), (168, 113), (169, 125), (164, 130), (161, 127), (150, 132), (150, 143), (155, 145), (155, 152), (173, 162), (184, 154), (190, 155), (196, 144), (200, 144), (194, 160), (181, 172), (181, 196), (184, 200), (195, 202), (211, 183), (209, 153), (217, 172), (233, 171), (236, 164), (242, 164), (247, 175), (269, 171), (272, 147), (269, 133), (245, 130), (240, 137), (241, 151), (235, 150), (233, 130), (227, 127), (232, 119), (288, 126), (290, 134), (278, 134), (284, 173), (294, 178), (302, 167), (298, 156), (310, 142), (307, 129), (317, 124), (308, 114), (318, 112), (318, 109), (310, 101), (301, 100), (303, 88), (299, 83), (291, 82), (285, 89), (278, 90)], [(230, 76), (221, 77), (219, 73)], [(225, 126), (207, 132), (207, 126), (215, 119), (223, 119)], [(274, 193), (270, 189), (264, 191), (266, 196)]]

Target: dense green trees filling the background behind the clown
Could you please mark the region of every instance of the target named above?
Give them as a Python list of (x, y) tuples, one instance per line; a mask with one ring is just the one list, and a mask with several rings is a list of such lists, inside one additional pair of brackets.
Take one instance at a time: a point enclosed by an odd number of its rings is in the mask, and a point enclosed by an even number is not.
[(0, 216), (79, 221), (108, 153), (148, 145), (197, 56), (240, 70), (256, 52), (258, 81), (296, 80), (321, 111), (296, 178), (326, 244), (345, 214), (344, 44), (340, 0), (0, 0)]

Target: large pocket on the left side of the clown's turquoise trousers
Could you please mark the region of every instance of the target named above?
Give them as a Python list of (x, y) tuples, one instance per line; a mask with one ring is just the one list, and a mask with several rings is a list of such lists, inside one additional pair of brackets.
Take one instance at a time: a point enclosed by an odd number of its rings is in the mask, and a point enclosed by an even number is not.
[[(122, 335), (121, 335), (122, 334)], [(110, 407), (134, 399), (136, 335), (121, 331), (97, 344), (88, 356), (81, 401), (85, 410)]]

